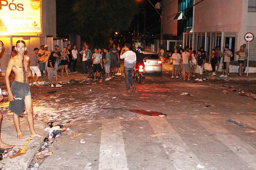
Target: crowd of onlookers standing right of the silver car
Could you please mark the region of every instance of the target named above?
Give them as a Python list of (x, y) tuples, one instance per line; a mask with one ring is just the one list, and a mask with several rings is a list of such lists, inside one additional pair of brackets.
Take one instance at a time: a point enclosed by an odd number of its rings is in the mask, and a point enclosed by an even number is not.
[[(239, 56), (238, 75), (242, 76), (242, 73), (245, 72), (247, 66), (248, 49), (246, 49), (246, 44), (241, 45), (239, 51), (236, 51), (235, 54)], [(188, 46), (186, 46), (185, 49), (178, 49), (178, 47), (175, 47), (173, 52), (168, 52), (165, 56), (164, 50), (160, 48), (159, 56), (163, 63), (168, 62), (173, 64), (172, 79), (183, 77), (183, 80), (190, 80), (190, 78), (193, 77), (196, 81), (203, 81), (202, 76), (206, 61), (206, 51), (204, 50), (204, 47), (200, 47), (197, 51), (192, 50), (192, 48), (189, 48)], [(217, 46), (215, 49), (211, 49), (209, 56), (211, 58), (212, 68), (211, 76), (216, 75), (216, 72), (219, 70), (221, 58), (223, 58), (222, 74), (219, 77), (228, 77), (230, 58), (233, 56), (229, 47), (225, 46), (225, 50), (221, 52), (220, 47)]]

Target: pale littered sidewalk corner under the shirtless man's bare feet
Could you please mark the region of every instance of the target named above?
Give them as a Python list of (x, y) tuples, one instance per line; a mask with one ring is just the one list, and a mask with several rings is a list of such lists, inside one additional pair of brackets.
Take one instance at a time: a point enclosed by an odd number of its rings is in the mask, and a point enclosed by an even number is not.
[(6, 121), (5, 126), (2, 127), (2, 139), (13, 146), (12, 149), (1, 149), (3, 153), (0, 166), (5, 170), (21, 170), (28, 168), (31, 159), (40, 149), (43, 139), (48, 135), (45, 131), (45, 128), (47, 127), (46, 123), (34, 121), (35, 131), (42, 135), (42, 137), (33, 138), (30, 137), (27, 121), (21, 120), (20, 124), (21, 130), (23, 130), (23, 133), (26, 136), (26, 139), (24, 140), (17, 139), (14, 124), (10, 120)]

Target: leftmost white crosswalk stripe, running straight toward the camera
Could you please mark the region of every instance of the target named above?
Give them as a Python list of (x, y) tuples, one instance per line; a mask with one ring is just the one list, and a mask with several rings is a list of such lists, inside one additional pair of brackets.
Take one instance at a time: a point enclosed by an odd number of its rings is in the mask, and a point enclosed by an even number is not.
[(99, 170), (128, 170), (120, 120), (102, 121)]

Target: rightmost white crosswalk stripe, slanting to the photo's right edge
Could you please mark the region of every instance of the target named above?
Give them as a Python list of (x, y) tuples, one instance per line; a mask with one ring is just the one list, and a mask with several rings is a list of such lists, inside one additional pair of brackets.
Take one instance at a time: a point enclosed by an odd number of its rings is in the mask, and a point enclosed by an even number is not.
[(212, 116), (204, 116), (204, 118), (201, 119), (201, 122), (203, 122), (200, 123), (201, 126), (209, 133), (213, 134), (216, 139), (225, 144), (231, 151), (237, 154), (237, 156), (251, 165), (251, 167), (256, 169), (256, 149), (254, 149), (254, 147), (242, 141), (236, 135), (229, 134), (228, 130), (222, 126), (213, 123), (211, 121), (213, 119)]

